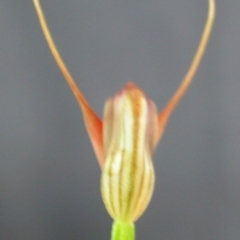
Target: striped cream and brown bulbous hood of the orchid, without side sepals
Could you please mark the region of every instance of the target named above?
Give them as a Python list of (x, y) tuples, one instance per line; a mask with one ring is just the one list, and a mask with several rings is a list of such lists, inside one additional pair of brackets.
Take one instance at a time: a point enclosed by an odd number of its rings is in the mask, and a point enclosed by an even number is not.
[(139, 88), (128, 83), (107, 101), (103, 123), (103, 200), (114, 219), (135, 221), (154, 188), (151, 155), (157, 141), (157, 109)]

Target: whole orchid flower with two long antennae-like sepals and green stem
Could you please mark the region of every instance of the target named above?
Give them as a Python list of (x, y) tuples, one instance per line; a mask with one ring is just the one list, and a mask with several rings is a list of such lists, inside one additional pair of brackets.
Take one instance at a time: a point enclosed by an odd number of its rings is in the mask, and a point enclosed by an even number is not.
[(165, 108), (158, 113), (154, 102), (129, 82), (106, 101), (103, 120), (93, 111), (64, 64), (39, 0), (33, 2), (50, 50), (80, 105), (102, 170), (102, 198), (114, 219), (111, 239), (134, 240), (134, 222), (147, 208), (154, 189), (154, 149), (200, 65), (214, 22), (215, 2), (208, 0), (208, 16), (199, 46), (185, 78)]

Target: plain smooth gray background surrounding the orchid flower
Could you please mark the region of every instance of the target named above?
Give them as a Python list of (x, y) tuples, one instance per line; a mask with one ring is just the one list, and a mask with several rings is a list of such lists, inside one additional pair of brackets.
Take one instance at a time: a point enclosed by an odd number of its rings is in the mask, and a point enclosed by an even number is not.
[[(137, 240), (240, 238), (240, 3), (216, 0), (198, 74), (154, 155)], [(132, 79), (163, 108), (193, 57), (206, 0), (42, 0), (99, 115)], [(110, 239), (100, 168), (30, 0), (0, 1), (0, 239)]]

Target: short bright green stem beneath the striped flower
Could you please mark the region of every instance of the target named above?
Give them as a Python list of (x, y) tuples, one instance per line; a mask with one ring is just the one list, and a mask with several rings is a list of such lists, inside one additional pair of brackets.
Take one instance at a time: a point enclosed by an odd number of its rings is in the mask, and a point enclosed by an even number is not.
[(135, 240), (134, 223), (114, 221), (111, 240)]

